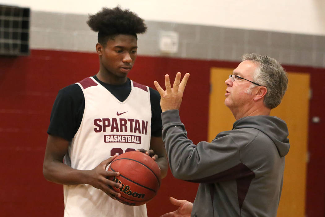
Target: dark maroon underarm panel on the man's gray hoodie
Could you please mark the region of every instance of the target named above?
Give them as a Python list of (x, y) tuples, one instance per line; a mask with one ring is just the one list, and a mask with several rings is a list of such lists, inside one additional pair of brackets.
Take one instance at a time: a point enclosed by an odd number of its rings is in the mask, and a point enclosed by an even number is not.
[[(243, 163), (240, 163), (230, 169), (227, 169), (223, 172), (214, 174), (209, 177), (196, 179), (196, 180), (185, 180), (189, 182), (197, 182), (197, 183), (215, 183), (215, 182), (224, 182), (230, 180), (236, 180), (237, 183), (237, 195), (239, 207), (241, 208), (246, 194), (248, 192), (248, 188), (251, 185), (252, 179), (255, 177), (255, 173), (248, 168)], [(210, 188), (210, 193), (211, 188)]]

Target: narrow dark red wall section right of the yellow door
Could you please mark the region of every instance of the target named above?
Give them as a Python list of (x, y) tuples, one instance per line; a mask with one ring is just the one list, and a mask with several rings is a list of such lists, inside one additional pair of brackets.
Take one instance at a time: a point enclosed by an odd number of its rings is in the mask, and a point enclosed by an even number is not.
[[(308, 217), (325, 216), (325, 69), (314, 69), (311, 73), (312, 97), (309, 110), (309, 162), (307, 167)], [(312, 123), (318, 116), (319, 123)]]

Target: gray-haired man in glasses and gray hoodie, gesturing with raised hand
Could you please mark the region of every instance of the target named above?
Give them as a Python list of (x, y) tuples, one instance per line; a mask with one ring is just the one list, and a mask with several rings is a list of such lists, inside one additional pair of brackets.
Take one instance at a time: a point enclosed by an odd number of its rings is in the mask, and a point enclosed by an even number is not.
[[(282, 190), (285, 155), (289, 152), (286, 123), (270, 116), (287, 90), (282, 66), (267, 56), (246, 54), (229, 75), (225, 105), (236, 121), (211, 142), (194, 145), (179, 117), (189, 74), (173, 88), (165, 75), (161, 95), (162, 139), (176, 178), (200, 183), (194, 203), (170, 198), (179, 207), (162, 217), (276, 217)], [(220, 117), (222, 118), (222, 117)]]

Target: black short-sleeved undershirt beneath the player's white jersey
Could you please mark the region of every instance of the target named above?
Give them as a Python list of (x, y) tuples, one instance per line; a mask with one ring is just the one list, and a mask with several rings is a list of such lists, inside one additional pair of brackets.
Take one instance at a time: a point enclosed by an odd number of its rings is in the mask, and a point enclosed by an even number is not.
[[(110, 91), (114, 97), (123, 102), (131, 92), (131, 81), (128, 78), (122, 85), (110, 85), (93, 78)], [(151, 103), (151, 136), (160, 137), (162, 131), (162, 120), (159, 93), (149, 87)], [(85, 110), (85, 97), (82, 89), (77, 84), (66, 86), (59, 90), (54, 101), (50, 125), (47, 133), (59, 136), (71, 142), (78, 131)]]

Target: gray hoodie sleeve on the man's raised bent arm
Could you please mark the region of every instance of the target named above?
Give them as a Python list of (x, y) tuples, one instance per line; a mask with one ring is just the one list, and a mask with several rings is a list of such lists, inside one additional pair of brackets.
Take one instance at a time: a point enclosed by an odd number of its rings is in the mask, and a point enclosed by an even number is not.
[[(212, 141), (193, 144), (187, 137), (178, 110), (162, 113), (162, 139), (174, 177), (198, 183), (234, 178), (240, 165), (240, 149), (231, 133), (222, 132)], [(229, 131), (228, 131), (229, 132)]]

